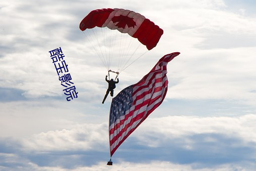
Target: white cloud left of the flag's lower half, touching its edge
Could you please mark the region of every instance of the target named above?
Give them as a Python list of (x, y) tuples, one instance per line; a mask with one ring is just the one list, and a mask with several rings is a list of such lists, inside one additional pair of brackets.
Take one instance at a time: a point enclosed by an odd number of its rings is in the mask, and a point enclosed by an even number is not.
[(35, 134), (24, 139), (25, 150), (32, 151), (70, 151), (108, 149), (107, 124), (76, 125), (71, 130), (55, 130)]

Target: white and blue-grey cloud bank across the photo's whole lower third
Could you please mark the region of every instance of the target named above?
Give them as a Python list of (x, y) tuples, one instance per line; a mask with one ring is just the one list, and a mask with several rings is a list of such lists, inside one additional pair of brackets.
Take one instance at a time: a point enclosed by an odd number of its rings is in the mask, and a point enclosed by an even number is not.
[[(148, 118), (112, 159), (120, 169), (132, 169), (132, 165), (136, 165), (146, 170), (144, 163), (151, 163), (152, 168), (158, 163), (162, 169), (169, 165), (185, 170), (239, 169), (244, 163), (248, 163), (244, 168), (251, 168), (256, 143), (255, 119), (255, 115)], [(4, 139), (2, 142), (5, 142), (2, 153), (16, 158), (22, 155), (25, 161), (39, 168), (107, 168), (106, 163), (102, 163), (109, 155), (106, 123), (73, 125), (69, 130), (42, 132), (19, 141)]]

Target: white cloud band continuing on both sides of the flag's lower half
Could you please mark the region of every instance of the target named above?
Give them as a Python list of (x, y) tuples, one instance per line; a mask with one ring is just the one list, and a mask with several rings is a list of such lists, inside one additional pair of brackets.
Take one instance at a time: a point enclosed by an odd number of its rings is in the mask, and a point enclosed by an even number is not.
[[(138, 140), (137, 144), (153, 148), (164, 147), (166, 143), (183, 139), (184, 141), (180, 144), (183, 146), (182, 148), (195, 150), (198, 148), (195, 142), (200, 144), (217, 143), (223, 141), (221, 136), (239, 140), (230, 145), (250, 147), (251, 143), (256, 143), (256, 134), (253, 133), (255, 121), (256, 116), (252, 114), (240, 117), (168, 116), (148, 118), (131, 137)], [(200, 135), (199, 139), (196, 138), (197, 135)], [(69, 130), (34, 134), (30, 138), (24, 139), (23, 145), (29, 151), (87, 151), (92, 149), (105, 151), (108, 149), (108, 126), (107, 123), (73, 125)], [(134, 145), (136, 146), (136, 144)]]

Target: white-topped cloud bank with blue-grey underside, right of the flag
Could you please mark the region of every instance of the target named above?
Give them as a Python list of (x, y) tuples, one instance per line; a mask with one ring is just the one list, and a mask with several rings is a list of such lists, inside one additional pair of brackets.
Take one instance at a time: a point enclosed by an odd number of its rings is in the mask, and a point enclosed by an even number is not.
[[(197, 163), (198, 168), (252, 162), (256, 143), (252, 133), (254, 120), (255, 115), (148, 118), (115, 155), (122, 153), (130, 161)], [(131, 142), (137, 147), (131, 147)], [(143, 158), (144, 153), (147, 159)]]

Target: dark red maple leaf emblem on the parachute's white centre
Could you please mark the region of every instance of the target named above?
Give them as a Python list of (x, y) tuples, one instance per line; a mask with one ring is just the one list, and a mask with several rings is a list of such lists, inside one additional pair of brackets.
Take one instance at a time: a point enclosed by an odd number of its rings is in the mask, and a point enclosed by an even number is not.
[(135, 21), (133, 18), (130, 18), (128, 16), (115, 16), (112, 18), (113, 23), (117, 23), (116, 26), (119, 28), (125, 28), (127, 25), (128, 27), (133, 27), (136, 26)]

